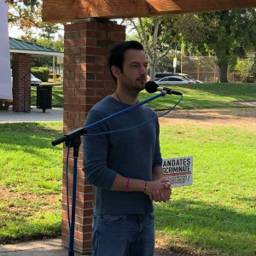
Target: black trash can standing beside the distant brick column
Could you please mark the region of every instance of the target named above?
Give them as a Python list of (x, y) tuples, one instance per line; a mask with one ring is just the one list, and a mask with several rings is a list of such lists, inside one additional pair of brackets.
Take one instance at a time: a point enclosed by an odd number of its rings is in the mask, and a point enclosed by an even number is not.
[(51, 109), (52, 105), (52, 86), (37, 85), (37, 108), (42, 108), (45, 113), (46, 109)]

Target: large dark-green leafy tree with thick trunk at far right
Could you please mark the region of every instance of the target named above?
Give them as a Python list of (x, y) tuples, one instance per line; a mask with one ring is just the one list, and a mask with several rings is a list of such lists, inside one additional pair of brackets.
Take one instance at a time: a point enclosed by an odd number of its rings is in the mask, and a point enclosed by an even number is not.
[[(238, 58), (245, 58), (248, 50), (256, 48), (256, 10), (201, 13), (197, 18), (204, 29), (183, 34), (184, 41), (196, 53), (217, 56), (219, 79), (226, 83), (228, 67), (235, 67)], [(201, 38), (193, 38), (199, 33)]]

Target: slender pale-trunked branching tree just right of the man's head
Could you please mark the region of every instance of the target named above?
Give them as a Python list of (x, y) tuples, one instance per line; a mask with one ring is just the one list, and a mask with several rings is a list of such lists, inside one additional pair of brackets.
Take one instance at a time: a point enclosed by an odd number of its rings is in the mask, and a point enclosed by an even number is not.
[(144, 46), (151, 79), (154, 79), (158, 61), (180, 44), (180, 32), (192, 19), (193, 15), (166, 15), (126, 20), (126, 24), (137, 31), (138, 38)]

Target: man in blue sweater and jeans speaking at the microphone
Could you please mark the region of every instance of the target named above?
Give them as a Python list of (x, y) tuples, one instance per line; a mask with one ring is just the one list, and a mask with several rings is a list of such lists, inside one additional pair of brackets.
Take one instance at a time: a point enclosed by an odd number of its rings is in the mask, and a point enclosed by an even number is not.
[[(148, 61), (142, 44), (114, 45), (108, 66), (116, 91), (91, 108), (84, 126), (137, 104), (144, 90)], [(155, 116), (142, 105), (91, 128), (83, 138), (83, 171), (95, 188), (94, 256), (154, 255), (153, 201), (168, 201), (171, 195), (161, 168), (159, 122), (127, 128)], [(116, 130), (121, 131), (111, 133)]]

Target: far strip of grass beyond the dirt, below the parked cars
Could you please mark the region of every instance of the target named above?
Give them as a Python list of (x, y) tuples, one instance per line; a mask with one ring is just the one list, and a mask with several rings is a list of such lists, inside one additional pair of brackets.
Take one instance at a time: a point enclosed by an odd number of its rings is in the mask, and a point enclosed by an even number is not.
[[(256, 101), (256, 84), (173, 84), (166, 87), (183, 93), (183, 100), (177, 109), (241, 107), (237, 102)], [(155, 94), (157, 93), (148, 94), (143, 90), (139, 99), (143, 101)], [(179, 97), (173, 95), (160, 97), (149, 102), (148, 106), (154, 110), (172, 108)]]

